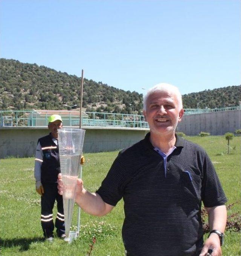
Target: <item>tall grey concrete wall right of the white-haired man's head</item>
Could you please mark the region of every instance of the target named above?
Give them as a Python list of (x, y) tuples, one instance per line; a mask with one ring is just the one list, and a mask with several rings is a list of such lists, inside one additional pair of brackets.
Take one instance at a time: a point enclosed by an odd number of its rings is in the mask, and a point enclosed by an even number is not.
[(178, 132), (186, 135), (197, 135), (200, 132), (223, 135), (237, 129), (241, 129), (241, 110), (185, 115), (177, 126)]

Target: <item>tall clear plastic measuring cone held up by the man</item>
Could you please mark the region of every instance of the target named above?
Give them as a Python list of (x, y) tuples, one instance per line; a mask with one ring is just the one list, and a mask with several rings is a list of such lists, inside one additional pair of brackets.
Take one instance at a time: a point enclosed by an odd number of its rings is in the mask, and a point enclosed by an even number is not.
[(85, 130), (59, 129), (59, 158), (63, 180), (64, 224), (66, 238), (69, 238), (76, 182), (80, 170)]

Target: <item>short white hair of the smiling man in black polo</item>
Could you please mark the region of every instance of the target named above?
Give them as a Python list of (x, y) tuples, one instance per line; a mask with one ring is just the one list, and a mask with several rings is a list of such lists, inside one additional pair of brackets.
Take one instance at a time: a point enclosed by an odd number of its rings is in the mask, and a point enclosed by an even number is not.
[(160, 83), (156, 84), (152, 88), (148, 89), (146, 91), (146, 94), (143, 98), (143, 109), (146, 111), (146, 103), (147, 99), (151, 94), (154, 94), (156, 92), (171, 92), (177, 97), (177, 102), (178, 102), (178, 109), (181, 110), (183, 108), (182, 106), (182, 95), (177, 87), (175, 87), (172, 84), (166, 84), (166, 83)]

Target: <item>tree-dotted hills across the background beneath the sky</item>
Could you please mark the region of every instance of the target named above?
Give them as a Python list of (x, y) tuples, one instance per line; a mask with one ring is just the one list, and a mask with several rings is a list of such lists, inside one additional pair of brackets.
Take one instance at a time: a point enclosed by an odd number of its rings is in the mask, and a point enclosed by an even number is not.
[[(0, 109), (66, 109), (79, 105), (81, 78), (37, 64), (0, 58)], [(142, 114), (143, 95), (84, 78), (85, 111)], [(228, 86), (183, 95), (185, 108), (239, 105), (241, 86)], [(77, 106), (78, 107), (78, 106)]]

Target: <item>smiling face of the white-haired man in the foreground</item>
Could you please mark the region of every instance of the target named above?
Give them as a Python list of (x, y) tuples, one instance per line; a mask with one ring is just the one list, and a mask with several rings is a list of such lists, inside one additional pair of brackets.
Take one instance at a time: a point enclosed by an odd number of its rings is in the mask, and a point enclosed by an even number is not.
[(183, 109), (179, 110), (178, 100), (171, 92), (155, 92), (149, 95), (146, 110), (143, 111), (151, 132), (171, 134), (175, 132), (178, 121), (181, 121)]

